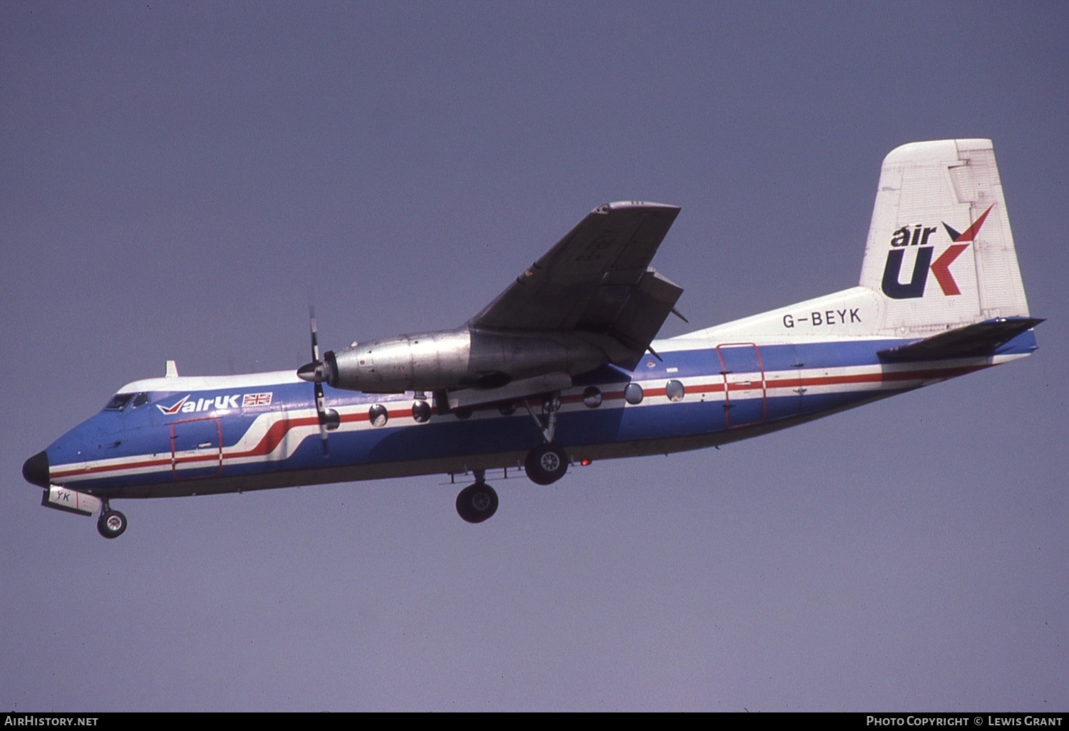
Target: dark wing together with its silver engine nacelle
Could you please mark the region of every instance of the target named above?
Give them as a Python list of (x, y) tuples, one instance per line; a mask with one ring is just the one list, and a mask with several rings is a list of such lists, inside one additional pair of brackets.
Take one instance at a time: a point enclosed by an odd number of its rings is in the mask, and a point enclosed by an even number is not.
[(634, 370), (683, 293), (649, 266), (678, 214), (594, 208), (462, 327), (313, 354), (297, 375), (365, 393), (430, 391), (441, 414), (559, 391), (606, 363)]

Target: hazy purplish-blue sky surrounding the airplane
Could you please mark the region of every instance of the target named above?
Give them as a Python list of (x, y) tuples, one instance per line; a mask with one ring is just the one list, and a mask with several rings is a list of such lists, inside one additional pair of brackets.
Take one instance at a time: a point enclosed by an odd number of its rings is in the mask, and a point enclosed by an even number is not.
[[(1067, 710), (1069, 5), (0, 4), (3, 710)], [(989, 137), (1024, 362), (719, 451), (40, 507), (122, 384), (459, 325), (590, 208), (704, 327), (856, 283), (893, 147)], [(666, 325), (664, 335), (683, 331)]]

